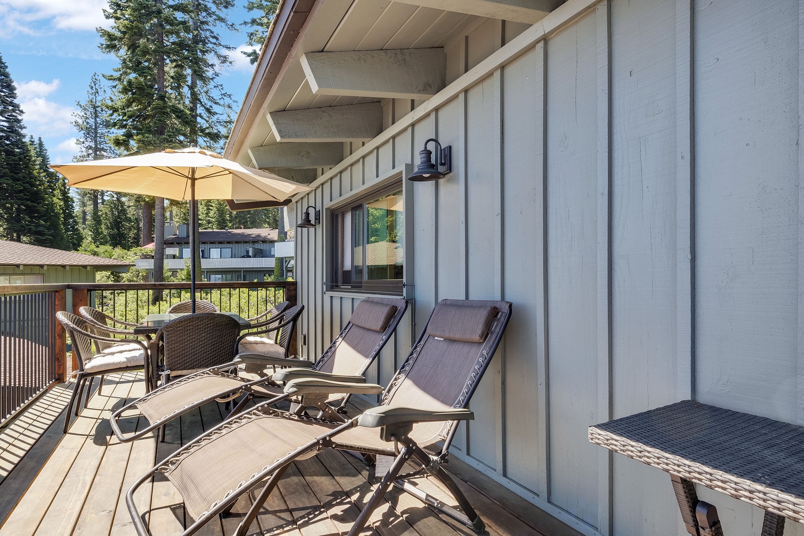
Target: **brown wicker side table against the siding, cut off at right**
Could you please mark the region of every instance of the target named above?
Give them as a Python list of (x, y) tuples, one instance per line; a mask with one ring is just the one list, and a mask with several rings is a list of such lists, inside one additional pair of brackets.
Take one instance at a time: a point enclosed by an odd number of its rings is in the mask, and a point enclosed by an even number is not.
[(591, 426), (589, 440), (670, 473), (690, 534), (723, 534), (693, 484), (764, 509), (761, 536), (804, 523), (804, 427), (685, 400)]

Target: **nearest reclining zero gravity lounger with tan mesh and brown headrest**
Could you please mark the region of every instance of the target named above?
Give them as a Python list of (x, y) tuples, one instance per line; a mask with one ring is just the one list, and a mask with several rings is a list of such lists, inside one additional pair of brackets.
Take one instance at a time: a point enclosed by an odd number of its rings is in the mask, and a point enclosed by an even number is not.
[[(183, 535), (196, 531), (238, 497), (265, 482), (236, 533), (246, 534), (269, 494), (294, 460), (315, 456), (324, 448), (392, 457), (388, 473), (375, 489), (349, 534), (359, 534), (371, 513), (394, 484), (480, 533), (485, 525), (457, 485), (441, 468), (461, 420), (474, 419), (467, 409), (478, 382), (499, 345), (511, 317), (507, 301), (441, 301), (433, 310), (416, 346), (388, 387), (300, 378), (285, 392), (301, 395), (348, 390), (382, 392), (378, 407), (347, 423), (334, 423), (270, 407), (270, 401), (220, 423), (192, 440), (141, 477), (125, 501), (137, 534), (149, 534), (134, 493), (156, 473), (165, 473), (195, 519)], [(379, 428), (379, 429), (378, 429)], [(441, 447), (438, 446), (443, 441)], [(428, 449), (428, 450), (425, 450)], [(407, 462), (419, 468), (400, 474)], [(460, 509), (443, 504), (409, 481), (428, 474), (449, 489)], [(379, 474), (377, 475), (379, 477)]]

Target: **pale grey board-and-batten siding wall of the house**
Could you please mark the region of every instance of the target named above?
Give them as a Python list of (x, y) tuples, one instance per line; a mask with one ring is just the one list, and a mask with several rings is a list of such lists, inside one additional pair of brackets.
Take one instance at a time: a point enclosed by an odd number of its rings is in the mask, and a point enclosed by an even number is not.
[[(325, 293), (326, 207), (437, 137), (453, 173), (405, 188), (415, 300), (370, 381), (388, 382), (437, 301), (510, 300), (454, 454), (585, 534), (686, 534), (667, 474), (587, 427), (688, 398), (804, 424), (802, 13), (570, 0), (513, 39), (490, 24), (496, 51), (464, 47), (468, 72), (450, 64), (448, 88), (295, 200), (294, 217), (325, 210), (296, 235), (301, 354), (359, 301)], [(699, 495), (726, 534), (761, 530), (760, 509)]]

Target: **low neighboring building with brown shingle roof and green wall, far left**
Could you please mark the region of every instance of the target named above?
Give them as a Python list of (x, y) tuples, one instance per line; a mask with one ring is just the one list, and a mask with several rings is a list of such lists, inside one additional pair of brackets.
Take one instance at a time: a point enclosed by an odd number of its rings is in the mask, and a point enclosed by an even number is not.
[(94, 283), (95, 272), (128, 272), (130, 263), (0, 240), (0, 284)]

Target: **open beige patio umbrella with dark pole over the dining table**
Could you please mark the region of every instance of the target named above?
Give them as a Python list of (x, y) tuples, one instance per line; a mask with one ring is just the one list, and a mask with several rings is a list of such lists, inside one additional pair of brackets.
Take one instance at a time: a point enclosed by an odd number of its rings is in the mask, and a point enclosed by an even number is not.
[[(161, 153), (72, 162), (50, 166), (67, 178), (68, 186), (190, 201), (190, 243), (195, 251), (197, 199), (273, 201), (310, 190), (266, 171), (241, 166), (217, 153), (189, 147)], [(190, 263), (191, 301), (195, 313), (195, 255)]]

